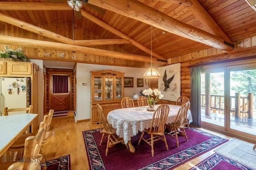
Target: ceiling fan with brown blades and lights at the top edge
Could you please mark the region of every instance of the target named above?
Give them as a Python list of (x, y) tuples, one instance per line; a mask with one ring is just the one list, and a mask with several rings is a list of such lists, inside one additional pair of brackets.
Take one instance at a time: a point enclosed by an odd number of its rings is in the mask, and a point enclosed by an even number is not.
[[(45, 0), (45, 2), (64, 2), (64, 1), (63, 0)], [(104, 15), (106, 13), (106, 11), (103, 10), (102, 8), (99, 8), (98, 6), (95, 6), (93, 4), (89, 4), (88, 0), (67, 0), (66, 2), (71, 8), (74, 9), (76, 19), (82, 18), (80, 8), (82, 8), (83, 5), (87, 6), (88, 8), (91, 8), (92, 10), (98, 12), (99, 14)]]

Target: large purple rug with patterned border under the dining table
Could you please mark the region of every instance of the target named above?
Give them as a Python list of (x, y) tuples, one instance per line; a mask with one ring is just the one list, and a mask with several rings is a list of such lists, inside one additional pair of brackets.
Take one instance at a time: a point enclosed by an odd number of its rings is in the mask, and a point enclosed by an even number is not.
[(152, 157), (150, 145), (144, 141), (138, 145), (141, 134), (139, 133), (132, 137), (134, 153), (119, 143), (109, 148), (108, 155), (105, 156), (107, 139), (105, 138), (100, 145), (102, 134), (99, 131), (100, 129), (83, 131), (91, 170), (170, 170), (228, 141), (222, 137), (190, 128), (186, 129), (188, 141), (185, 137), (178, 137), (180, 147), (177, 147), (176, 139), (168, 135), (166, 135), (166, 141), (169, 150), (166, 150), (163, 141), (154, 142), (154, 157)]

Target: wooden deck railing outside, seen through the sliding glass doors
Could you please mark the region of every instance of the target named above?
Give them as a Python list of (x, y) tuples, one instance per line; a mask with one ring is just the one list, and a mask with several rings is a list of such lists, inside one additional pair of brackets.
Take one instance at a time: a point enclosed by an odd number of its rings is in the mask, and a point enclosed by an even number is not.
[[(230, 100), (234, 98), (234, 107), (230, 109), (230, 114), (235, 117), (253, 118), (253, 94), (248, 93), (247, 96), (241, 96), (236, 93), (235, 96), (230, 96)], [(242, 99), (242, 104), (241, 104)], [(201, 94), (201, 107), (205, 107), (205, 95)], [(213, 113), (223, 114), (224, 112), (224, 96), (210, 95), (210, 109)], [(209, 113), (208, 113), (209, 114)]]

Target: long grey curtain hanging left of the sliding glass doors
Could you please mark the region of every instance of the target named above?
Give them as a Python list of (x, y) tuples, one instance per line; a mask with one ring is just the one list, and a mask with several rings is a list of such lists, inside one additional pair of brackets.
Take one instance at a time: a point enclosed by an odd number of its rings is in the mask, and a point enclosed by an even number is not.
[(190, 68), (190, 79), (191, 124), (201, 127), (201, 67)]

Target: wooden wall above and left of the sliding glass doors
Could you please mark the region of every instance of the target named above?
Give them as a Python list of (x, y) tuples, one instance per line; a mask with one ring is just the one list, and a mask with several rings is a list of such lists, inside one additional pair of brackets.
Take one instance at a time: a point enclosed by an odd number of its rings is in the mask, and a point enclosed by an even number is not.
[(234, 44), (235, 49), (231, 52), (209, 48), (168, 59), (168, 64), (181, 63), (181, 96), (190, 98), (190, 68), (188, 66), (253, 55), (256, 58), (256, 36), (237, 41)]

